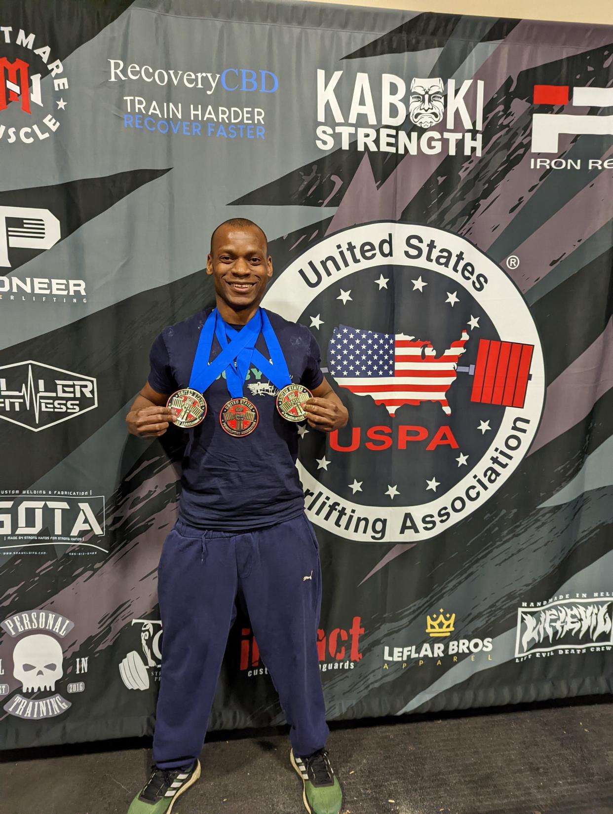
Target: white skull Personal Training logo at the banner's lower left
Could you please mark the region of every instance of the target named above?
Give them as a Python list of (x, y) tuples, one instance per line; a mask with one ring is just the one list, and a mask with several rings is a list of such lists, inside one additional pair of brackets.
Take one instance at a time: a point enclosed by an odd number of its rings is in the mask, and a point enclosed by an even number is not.
[[(21, 685), (20, 692), (4, 704), (4, 710), (18, 718), (41, 720), (55, 718), (72, 707), (56, 685), (65, 678), (62, 641), (74, 628), (74, 622), (50, 610), (28, 610), (5, 619), (0, 628), (16, 640), (12, 654), (13, 677)], [(76, 660), (78, 675), (87, 672), (87, 661), (87, 658)], [(3, 688), (7, 693), (10, 691), (8, 685)], [(81, 693), (84, 689), (83, 681), (75, 681), (68, 683), (65, 691)], [(41, 696), (45, 691), (50, 694)], [(34, 694), (33, 698), (27, 697), (30, 693)]]

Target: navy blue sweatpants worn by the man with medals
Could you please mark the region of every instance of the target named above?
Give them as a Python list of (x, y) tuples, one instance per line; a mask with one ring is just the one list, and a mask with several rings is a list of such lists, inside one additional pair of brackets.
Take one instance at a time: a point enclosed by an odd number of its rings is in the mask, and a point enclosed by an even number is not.
[(294, 753), (326, 745), (317, 657), (322, 574), (305, 514), (238, 534), (177, 521), (162, 549), (158, 595), (164, 638), (155, 764), (182, 766), (202, 749), (237, 597), (291, 726)]

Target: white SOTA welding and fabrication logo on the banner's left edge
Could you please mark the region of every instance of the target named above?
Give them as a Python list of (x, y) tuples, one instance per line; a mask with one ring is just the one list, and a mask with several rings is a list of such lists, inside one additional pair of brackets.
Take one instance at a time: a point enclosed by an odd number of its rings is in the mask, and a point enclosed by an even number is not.
[[(96, 518), (99, 514), (102, 525)], [(104, 497), (72, 497), (39, 492), (37, 497), (0, 493), (0, 550), (45, 546), (42, 540), (107, 553), (90, 542), (104, 536)]]

